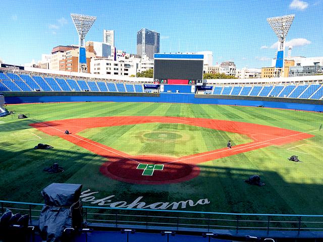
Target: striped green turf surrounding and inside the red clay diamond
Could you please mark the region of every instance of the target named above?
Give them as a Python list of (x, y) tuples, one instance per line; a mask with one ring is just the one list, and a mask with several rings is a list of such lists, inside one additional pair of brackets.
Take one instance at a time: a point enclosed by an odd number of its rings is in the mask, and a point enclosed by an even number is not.
[[(322, 113), (170, 103), (43, 103), (11, 105), (7, 108), (16, 110), (17, 113), (30, 113), (30, 119), (20, 120), (17, 116), (0, 118), (2, 200), (42, 202), (40, 191), (47, 185), (53, 182), (80, 183), (84, 190), (99, 192), (96, 195), (98, 199), (115, 195), (114, 201), (128, 203), (139, 196), (151, 203), (207, 198), (210, 201), (208, 205), (195, 206), (189, 210), (323, 214), (323, 131), (315, 131), (323, 123)], [(103, 176), (99, 167), (106, 161), (105, 158), (28, 126), (35, 123), (35, 120), (45, 122), (66, 118), (131, 115), (235, 120), (311, 132), (315, 137), (201, 163), (200, 175), (184, 183), (135, 185)], [(158, 132), (175, 135), (167, 136), (166, 139)], [(148, 133), (150, 136), (147, 137)], [(112, 127), (97, 128), (85, 130), (80, 135), (130, 154), (146, 154), (149, 151), (164, 152), (163, 154), (170, 156), (190, 154), (192, 149), (198, 149), (198, 152), (217, 149), (223, 143), (226, 144), (228, 139), (234, 143), (248, 141), (246, 137), (238, 137), (233, 133), (216, 132), (214, 136), (213, 130), (176, 124), (123, 126), (117, 130)], [(135, 140), (137, 143), (132, 143)], [(183, 143), (176, 143), (176, 140)], [(194, 143), (192, 149), (185, 143), (189, 140)], [(33, 150), (37, 143), (50, 144), (55, 148)], [(167, 145), (163, 149), (158, 146), (155, 149), (155, 145), (159, 143)], [(293, 154), (298, 155), (302, 163), (288, 161), (287, 157)], [(63, 166), (65, 172), (47, 174), (42, 171), (53, 162)], [(266, 186), (245, 184), (243, 179), (251, 174), (259, 174)], [(84, 205), (90, 204), (84, 202)]]

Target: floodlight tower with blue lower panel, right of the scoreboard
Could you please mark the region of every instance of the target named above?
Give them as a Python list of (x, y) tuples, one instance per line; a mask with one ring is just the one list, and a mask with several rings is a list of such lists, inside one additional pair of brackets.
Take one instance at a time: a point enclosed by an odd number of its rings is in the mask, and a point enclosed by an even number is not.
[(284, 73), (284, 50), (285, 40), (288, 34), (289, 28), (291, 27), (295, 15), (285, 15), (281, 17), (268, 18), (267, 22), (270, 24), (275, 34), (278, 37), (280, 45), (277, 51), (275, 75), (276, 77), (283, 77)]

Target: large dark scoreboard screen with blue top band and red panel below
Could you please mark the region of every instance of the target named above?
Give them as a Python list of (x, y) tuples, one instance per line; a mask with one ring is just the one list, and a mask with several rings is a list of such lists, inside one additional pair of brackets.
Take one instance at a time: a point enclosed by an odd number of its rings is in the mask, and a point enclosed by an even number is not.
[(202, 54), (154, 54), (154, 84), (203, 85)]

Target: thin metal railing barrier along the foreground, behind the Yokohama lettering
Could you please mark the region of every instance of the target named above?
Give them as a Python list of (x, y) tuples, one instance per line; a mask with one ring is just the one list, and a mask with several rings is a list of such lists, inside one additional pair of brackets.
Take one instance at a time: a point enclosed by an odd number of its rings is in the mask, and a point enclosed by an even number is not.
[[(1, 213), (29, 214), (30, 223), (39, 218), (43, 204), (0, 201)], [(174, 231), (241, 230), (323, 231), (323, 215), (251, 214), (83, 206), (83, 219), (93, 226), (114, 228), (170, 229)]]

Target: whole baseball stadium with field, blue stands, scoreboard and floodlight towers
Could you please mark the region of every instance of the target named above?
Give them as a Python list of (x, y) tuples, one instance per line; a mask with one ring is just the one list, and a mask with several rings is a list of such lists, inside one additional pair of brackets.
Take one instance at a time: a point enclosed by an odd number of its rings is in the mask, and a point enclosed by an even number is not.
[(204, 79), (198, 53), (154, 53), (153, 78), (89, 74), (81, 35), (79, 72), (1, 64), (2, 217), (42, 241), (61, 192), (86, 223), (66, 241), (321, 241), (323, 75), (283, 77), (285, 36), (274, 78)]

